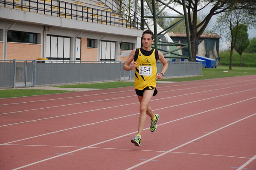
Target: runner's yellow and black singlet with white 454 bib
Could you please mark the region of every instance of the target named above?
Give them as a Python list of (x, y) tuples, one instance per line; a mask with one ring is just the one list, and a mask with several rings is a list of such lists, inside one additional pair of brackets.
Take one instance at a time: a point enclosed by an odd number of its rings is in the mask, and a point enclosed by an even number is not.
[(146, 87), (154, 89), (157, 84), (157, 60), (159, 59), (158, 52), (155, 49), (146, 51), (142, 48), (136, 49), (134, 61), (137, 62), (135, 69), (135, 89), (143, 90)]

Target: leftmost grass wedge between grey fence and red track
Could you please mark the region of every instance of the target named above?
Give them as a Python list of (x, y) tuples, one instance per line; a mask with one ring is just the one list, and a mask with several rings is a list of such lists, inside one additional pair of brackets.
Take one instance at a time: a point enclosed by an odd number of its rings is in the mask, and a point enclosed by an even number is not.
[(0, 98), (15, 98), (32, 95), (48, 95), (70, 92), (67, 90), (40, 90), (40, 89), (7, 89), (0, 90)]

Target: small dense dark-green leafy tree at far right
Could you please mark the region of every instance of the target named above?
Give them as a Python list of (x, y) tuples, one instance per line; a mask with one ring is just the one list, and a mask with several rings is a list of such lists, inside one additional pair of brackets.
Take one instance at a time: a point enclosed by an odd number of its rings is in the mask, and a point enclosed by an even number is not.
[(238, 34), (237, 34), (235, 50), (240, 55), (240, 67), (241, 67), (242, 66), (242, 53), (249, 45), (249, 38), (248, 38), (249, 35), (247, 33), (248, 29), (247, 29), (246, 25), (239, 24), (239, 26), (235, 27), (235, 29), (233, 31), (236, 32), (237, 29), (238, 29)]

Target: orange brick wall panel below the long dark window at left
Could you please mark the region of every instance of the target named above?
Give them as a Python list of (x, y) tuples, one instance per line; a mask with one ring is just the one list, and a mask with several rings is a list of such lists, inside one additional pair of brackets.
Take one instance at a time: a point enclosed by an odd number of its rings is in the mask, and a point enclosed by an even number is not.
[(38, 60), (40, 52), (41, 44), (7, 43), (7, 60)]

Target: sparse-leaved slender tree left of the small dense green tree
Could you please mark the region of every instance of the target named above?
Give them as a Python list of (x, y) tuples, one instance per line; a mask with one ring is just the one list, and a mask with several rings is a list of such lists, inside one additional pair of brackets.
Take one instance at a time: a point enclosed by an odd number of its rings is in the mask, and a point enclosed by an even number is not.
[[(236, 8), (236, 6), (234, 6)], [(255, 26), (256, 18), (247, 10), (235, 9), (222, 13), (216, 22), (215, 28), (218, 28), (218, 32), (221, 35), (225, 35), (227, 40), (230, 41), (230, 64), (229, 69), (232, 69), (232, 55), (236, 46), (236, 41), (239, 35), (239, 24), (245, 24), (247, 26)], [(227, 32), (227, 30), (229, 31)]]

